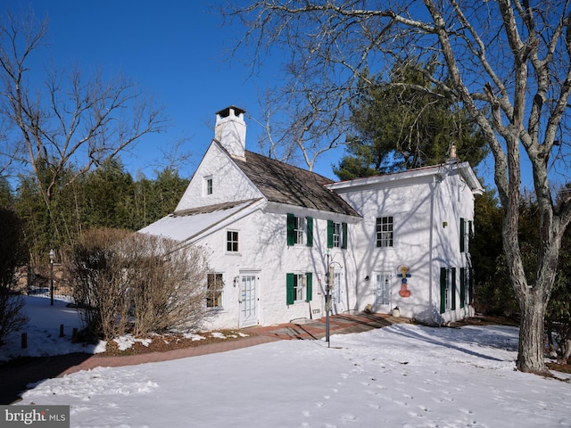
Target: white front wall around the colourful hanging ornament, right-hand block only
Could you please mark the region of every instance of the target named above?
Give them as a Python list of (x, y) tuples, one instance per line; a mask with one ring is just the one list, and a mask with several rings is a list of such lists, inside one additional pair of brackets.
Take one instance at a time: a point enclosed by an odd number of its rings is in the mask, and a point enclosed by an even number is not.
[[(427, 254), (430, 243), (431, 188), (428, 178), (420, 182), (406, 180), (398, 183), (365, 185), (342, 193), (343, 198), (358, 207), (363, 221), (353, 229), (352, 251), (356, 260), (356, 271), (351, 281), (355, 286), (357, 309), (376, 304), (376, 274), (392, 274), (392, 293), (389, 311), (398, 306), (401, 315), (410, 317), (424, 309), (429, 286)], [(377, 217), (393, 217), (393, 247), (377, 248)], [(410, 297), (401, 298), (401, 278), (397, 268), (407, 265), (410, 278), (407, 289)], [(366, 277), (368, 276), (368, 280)], [(376, 308), (378, 309), (378, 308)]]

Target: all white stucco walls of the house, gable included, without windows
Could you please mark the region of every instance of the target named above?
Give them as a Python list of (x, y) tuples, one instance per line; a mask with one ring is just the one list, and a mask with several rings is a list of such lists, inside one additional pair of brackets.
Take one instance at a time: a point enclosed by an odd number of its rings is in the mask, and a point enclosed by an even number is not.
[[(426, 172), (429, 171), (429, 172)], [(212, 179), (213, 192), (206, 194), (205, 180)], [(467, 266), (466, 254), (459, 251), (459, 218), (474, 218), (474, 196), (456, 170), (426, 169), (420, 174), (394, 175), (388, 179), (359, 181), (335, 188), (345, 201), (360, 212), (362, 220), (349, 224), (347, 250), (331, 249), (327, 259), (327, 219), (343, 221), (334, 214), (301, 207), (262, 204), (245, 218), (229, 227), (211, 229), (197, 244), (211, 252), (211, 267), (222, 273), (226, 284), (223, 309), (217, 309), (210, 328), (237, 328), (240, 320), (240, 284), (244, 274), (258, 278), (257, 323), (274, 325), (299, 318), (325, 315), (327, 262), (342, 273), (341, 302), (334, 313), (362, 311), (375, 307), (375, 277), (390, 272), (391, 301), (377, 310), (401, 309), (404, 317), (429, 321), (436, 317), (454, 320), (467, 315), (466, 310), (438, 314), (440, 308), (440, 268)], [(263, 195), (244, 176), (226, 152), (212, 143), (196, 170), (177, 210), (186, 210), (221, 202), (262, 198)], [(312, 247), (288, 246), (286, 214), (313, 218)], [(377, 217), (393, 217), (393, 247), (376, 247)], [(226, 251), (227, 231), (239, 233), (238, 254)], [(406, 288), (410, 297), (401, 297), (398, 268), (407, 265), (410, 278)], [(287, 273), (313, 275), (312, 300), (286, 304)], [(368, 277), (368, 280), (366, 278)], [(459, 302), (459, 296), (457, 296)], [(457, 304), (459, 307), (459, 304)], [(470, 308), (468, 310), (471, 310)]]

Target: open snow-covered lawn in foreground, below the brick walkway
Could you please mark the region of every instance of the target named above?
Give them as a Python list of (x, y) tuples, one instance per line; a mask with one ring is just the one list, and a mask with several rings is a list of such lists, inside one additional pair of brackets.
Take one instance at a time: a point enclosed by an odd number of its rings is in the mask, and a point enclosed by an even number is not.
[(99, 367), (31, 385), (19, 404), (70, 405), (72, 427), (94, 428), (570, 427), (571, 384), (515, 371), (516, 356), (514, 327), (393, 325), (330, 348)]

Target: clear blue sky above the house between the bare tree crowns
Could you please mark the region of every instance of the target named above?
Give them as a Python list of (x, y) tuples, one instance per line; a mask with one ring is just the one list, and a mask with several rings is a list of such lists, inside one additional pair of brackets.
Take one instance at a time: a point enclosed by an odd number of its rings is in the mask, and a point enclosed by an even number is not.
[[(258, 150), (259, 98), (281, 78), (279, 62), (267, 61), (252, 73), (251, 58), (228, 61), (226, 52), (244, 28), (221, 27), (214, 3), (219, 0), (4, 0), (2, 12), (31, 6), (38, 19), (46, 15), (48, 49), (58, 68), (78, 62), (85, 72), (120, 72), (143, 86), (164, 105), (173, 126), (145, 137), (132, 156), (123, 156), (126, 168), (134, 177), (138, 171), (154, 177), (154, 170), (164, 167), (170, 142), (188, 136), (184, 151), (192, 153), (191, 163), (180, 173), (190, 177), (214, 136), (215, 112), (230, 104), (247, 111), (246, 146)], [(335, 178), (331, 165), (342, 155), (343, 149), (328, 152), (314, 170)], [(478, 172), (492, 184), (491, 164), (481, 164)], [(530, 178), (524, 181), (532, 185)]]

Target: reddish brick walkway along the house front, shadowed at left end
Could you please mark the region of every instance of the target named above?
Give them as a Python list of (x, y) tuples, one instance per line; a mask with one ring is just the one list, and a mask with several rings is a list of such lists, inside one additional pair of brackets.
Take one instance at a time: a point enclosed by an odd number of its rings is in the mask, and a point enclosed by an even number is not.
[[(355, 314), (329, 317), (329, 333), (361, 333), (396, 323), (407, 323), (408, 318), (385, 314)], [(300, 320), (299, 323), (250, 327), (243, 329), (248, 336), (228, 342), (207, 343), (182, 350), (151, 352), (139, 355), (110, 357), (102, 354), (70, 354), (54, 357), (27, 358), (0, 366), (0, 404), (11, 404), (29, 383), (61, 377), (65, 374), (90, 370), (97, 366), (118, 367), (195, 357), (227, 350), (237, 350), (279, 340), (318, 340), (326, 336), (326, 318)]]

